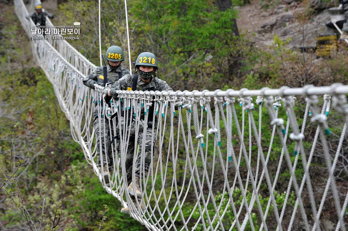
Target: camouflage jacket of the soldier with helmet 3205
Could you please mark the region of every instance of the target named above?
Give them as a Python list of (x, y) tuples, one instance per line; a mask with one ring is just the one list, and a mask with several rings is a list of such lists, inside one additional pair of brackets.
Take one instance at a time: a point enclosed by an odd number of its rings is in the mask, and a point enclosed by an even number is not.
[[(117, 81), (119, 79), (121, 71), (122, 71), (121, 76), (125, 76), (125, 75), (129, 75), (130, 74), (129, 71), (126, 68), (123, 68), (123, 67), (119, 67), (116, 70), (112, 71), (110, 66), (108, 65), (106, 70), (108, 71), (108, 83), (109, 84), (113, 83), (113, 81), (111, 81), (111, 79), (110, 79), (109, 73), (112, 75), (112, 77), (113, 77), (113, 79), (115, 81)], [(88, 75), (88, 77), (86, 77), (82, 82), (86, 86), (94, 89), (94, 84), (95, 84), (94, 81), (96, 81), (96, 83), (101, 85), (101, 86), (105, 86), (105, 84), (104, 84), (103, 67), (95, 68), (94, 71), (92, 73), (90, 73)]]

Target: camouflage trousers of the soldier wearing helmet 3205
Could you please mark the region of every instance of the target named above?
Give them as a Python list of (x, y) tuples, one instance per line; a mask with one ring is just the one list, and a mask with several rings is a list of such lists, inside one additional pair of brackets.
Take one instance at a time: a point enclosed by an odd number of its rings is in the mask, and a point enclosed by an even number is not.
[[(111, 125), (111, 134), (110, 134), (110, 125)], [(98, 117), (94, 118), (94, 130), (95, 130), (95, 138), (97, 142), (98, 166), (101, 166), (101, 158), (100, 158), (100, 149), (101, 149), (103, 165), (108, 163), (109, 172), (112, 172), (114, 169), (113, 160), (117, 162), (117, 155), (116, 155), (116, 149), (115, 149), (116, 147), (114, 145), (115, 142), (111, 142), (111, 140), (114, 140), (114, 137), (115, 137), (113, 132), (113, 124), (111, 121), (110, 121), (110, 125), (109, 125), (109, 119), (106, 119), (105, 117), (100, 119)]]

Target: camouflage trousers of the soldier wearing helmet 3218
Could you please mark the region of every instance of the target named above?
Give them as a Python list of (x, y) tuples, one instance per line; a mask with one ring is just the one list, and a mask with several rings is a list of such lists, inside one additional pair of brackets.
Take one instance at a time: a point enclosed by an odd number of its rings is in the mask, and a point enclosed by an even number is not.
[[(123, 119), (120, 120), (119, 126), (122, 126)], [(149, 123), (149, 125), (152, 125), (152, 123)], [(119, 128), (118, 126), (118, 128)], [(130, 127), (134, 128), (135, 126), (135, 121), (132, 122)], [(122, 126), (123, 127), (123, 126)], [(116, 129), (118, 131), (118, 129)], [(137, 139), (135, 139), (135, 134), (132, 134), (133, 131), (131, 129), (131, 134), (129, 136), (129, 141), (128, 141), (128, 149), (126, 151), (126, 159), (121, 161), (125, 161), (125, 167), (126, 167), (126, 173), (127, 173), (127, 183), (128, 185), (132, 181), (132, 174), (133, 171), (135, 172), (135, 176), (138, 176), (140, 178), (146, 178), (150, 164), (151, 164), (151, 159), (152, 156), (155, 153), (155, 145), (156, 145), (156, 132), (157, 130), (154, 129), (154, 132), (152, 133), (152, 127), (149, 127), (147, 130), (141, 130), (139, 131), (139, 134), (137, 136)], [(143, 137), (145, 136), (145, 140), (143, 143)], [(153, 137), (153, 141), (152, 141)], [(117, 146), (119, 146), (120, 140), (117, 141)], [(133, 170), (133, 159), (134, 159), (134, 147), (135, 145), (139, 144), (139, 152), (136, 154), (136, 159), (135, 159), (135, 169)], [(143, 151), (143, 149), (145, 149)], [(120, 147), (117, 147), (117, 150), (120, 150)], [(144, 160), (142, 162), (142, 153), (144, 152)]]

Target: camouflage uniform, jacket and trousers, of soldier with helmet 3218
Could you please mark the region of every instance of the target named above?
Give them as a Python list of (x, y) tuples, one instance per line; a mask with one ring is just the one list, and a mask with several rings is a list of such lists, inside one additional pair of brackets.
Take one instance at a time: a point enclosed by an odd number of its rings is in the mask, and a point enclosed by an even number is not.
[[(132, 88), (133, 85), (133, 77), (134, 75), (125, 75), (124, 77), (122, 77), (122, 79), (120, 79), (119, 81), (117, 81), (116, 83), (113, 83), (111, 85), (106, 86), (103, 89), (103, 95), (105, 94), (105, 101), (109, 102), (111, 100), (111, 96), (108, 96), (108, 90), (118, 87), (121, 90), (127, 90), (127, 88)], [(136, 90), (140, 90), (139, 86), (142, 87), (143, 91), (171, 91), (172, 89), (168, 86), (168, 84), (163, 81), (158, 79), (157, 77), (154, 77), (151, 79), (151, 81), (149, 83), (144, 83), (142, 81), (142, 79), (140, 78), (140, 76), (138, 77), (138, 82), (137, 82), (137, 87)], [(135, 89), (133, 89), (135, 90)], [(144, 107), (141, 108), (141, 114), (140, 114), (140, 118), (144, 118), (145, 114), (144, 114)], [(152, 116), (149, 116), (149, 119), (152, 118)], [(140, 124), (142, 125), (143, 121), (140, 121)], [(152, 134), (152, 124), (154, 124), (154, 126), (156, 126), (156, 124), (152, 121), (148, 121), (148, 129), (146, 131), (143, 131), (143, 126), (140, 126), (139, 129), (139, 135), (137, 137), (137, 139), (135, 139), (135, 121), (132, 121), (132, 124), (130, 124), (131, 127), (131, 131), (130, 131), (130, 137), (129, 137), (129, 144), (128, 144), (128, 150), (127, 150), (127, 155), (126, 155), (126, 172), (127, 172), (127, 181), (128, 181), (128, 185), (130, 184), (130, 182), (132, 181), (132, 167), (133, 167), (133, 155), (134, 155), (134, 146), (135, 146), (135, 140), (137, 141), (137, 143), (139, 143), (140, 146), (140, 153), (142, 148), (145, 148), (145, 163), (144, 163), (144, 172), (145, 175), (143, 175), (142, 177), (146, 177), (147, 173), (149, 171), (149, 167), (150, 167), (150, 162), (151, 162), (151, 140), (152, 140), (152, 136), (154, 135), (154, 137), (156, 137), (156, 127), (154, 130), (154, 134)], [(120, 119), (120, 122), (117, 125), (117, 129), (121, 130), (123, 129), (123, 118)], [(145, 143), (144, 146), (142, 147), (142, 138), (143, 135), (145, 134), (146, 138), (145, 138)], [(118, 141), (119, 142), (119, 141)], [(153, 147), (155, 147), (156, 145), (156, 139), (154, 139), (154, 143), (153, 143)], [(142, 164), (141, 164), (141, 156), (138, 155), (137, 159), (136, 159), (136, 169), (135, 169), (135, 175), (140, 177), (140, 172), (142, 171)]]

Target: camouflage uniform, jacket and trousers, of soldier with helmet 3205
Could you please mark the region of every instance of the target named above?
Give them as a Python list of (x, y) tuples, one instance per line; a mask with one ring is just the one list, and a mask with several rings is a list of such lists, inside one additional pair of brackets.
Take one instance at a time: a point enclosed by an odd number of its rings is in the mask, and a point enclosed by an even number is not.
[[(123, 67), (119, 67), (115, 70), (112, 70), (109, 65), (107, 67), (107, 71), (108, 71), (108, 79), (107, 80), (108, 80), (109, 84), (113, 83), (110, 79), (110, 74), (112, 75), (112, 77), (115, 81), (118, 80), (119, 76), (124, 76), (124, 75), (130, 74), (129, 71)], [(90, 73), (88, 75), (88, 77), (86, 77), (83, 80), (83, 83), (92, 89), (94, 89), (95, 83), (98, 85), (104, 86), (104, 76), (103, 75), (104, 75), (103, 67), (97, 67), (94, 69), (94, 71), (92, 73)], [(109, 132), (110, 131), (109, 120), (107, 118), (105, 118), (105, 117), (101, 118), (100, 119), (101, 124), (99, 124), (99, 119), (98, 119), (99, 109), (100, 109), (100, 107), (96, 106), (94, 109), (94, 112), (93, 112), (94, 130), (95, 130), (96, 140), (97, 140), (97, 142), (99, 142), (99, 139), (101, 139), (103, 163), (108, 162), (109, 172), (112, 172), (113, 163), (111, 163), (111, 161), (112, 161), (113, 157), (112, 157), (112, 149), (111, 149), (111, 140), (114, 137), (113, 124), (112, 124), (112, 121), (110, 121), (110, 124), (111, 124), (111, 134), (110, 134), (110, 132)], [(101, 114), (104, 114), (104, 113), (101, 112)], [(105, 122), (105, 126), (104, 126), (104, 122)], [(105, 150), (104, 150), (105, 147), (106, 147), (106, 149), (108, 149), (108, 152), (107, 152), (108, 155), (105, 155)], [(97, 145), (98, 165), (100, 166), (101, 161), (100, 161), (99, 155), (100, 155), (100, 147), (99, 147), (99, 145)]]

